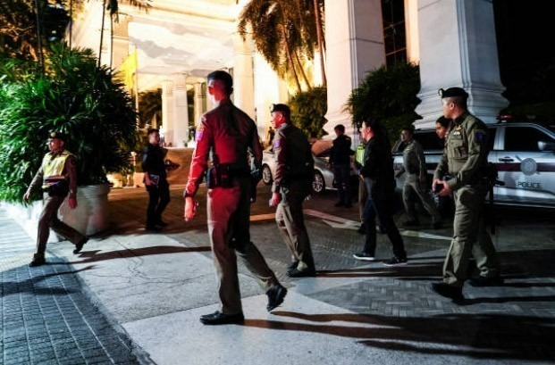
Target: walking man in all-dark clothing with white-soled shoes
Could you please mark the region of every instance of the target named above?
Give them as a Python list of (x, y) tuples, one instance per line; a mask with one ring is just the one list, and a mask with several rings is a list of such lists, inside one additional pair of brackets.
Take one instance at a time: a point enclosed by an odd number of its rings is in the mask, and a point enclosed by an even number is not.
[(365, 207), (366, 243), (362, 253), (356, 253), (358, 260), (374, 260), (376, 245), (376, 215), (385, 233), (393, 245), (393, 257), (384, 261), (385, 266), (401, 266), (407, 264), (407, 253), (403, 238), (393, 220), (395, 201), (395, 178), (393, 177), (393, 159), (391, 146), (385, 130), (379, 120), (364, 121), (361, 129), (366, 140), (365, 164), (360, 175), (365, 178), (369, 199)]

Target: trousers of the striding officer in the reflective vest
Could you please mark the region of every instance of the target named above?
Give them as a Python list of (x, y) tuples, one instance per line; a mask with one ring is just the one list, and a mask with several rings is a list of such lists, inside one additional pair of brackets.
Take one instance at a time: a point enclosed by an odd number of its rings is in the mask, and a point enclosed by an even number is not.
[(78, 230), (71, 228), (63, 223), (62, 220), (58, 219), (58, 209), (60, 209), (60, 205), (62, 205), (64, 199), (65, 196), (50, 196), (48, 193), (43, 194), (44, 207), (38, 219), (37, 253), (35, 253), (35, 257), (37, 258), (45, 257), (46, 243), (48, 242), (48, 236), (50, 236), (50, 228), (59, 236), (63, 236), (69, 240), (73, 245), (77, 245), (77, 243), (85, 239), (85, 236), (80, 234)]

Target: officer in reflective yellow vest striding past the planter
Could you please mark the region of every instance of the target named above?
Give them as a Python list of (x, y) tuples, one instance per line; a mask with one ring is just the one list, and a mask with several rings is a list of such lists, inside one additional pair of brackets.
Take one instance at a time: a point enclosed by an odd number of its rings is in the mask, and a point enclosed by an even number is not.
[(87, 243), (87, 236), (83, 236), (76, 229), (71, 228), (58, 219), (58, 209), (68, 196), (71, 209), (77, 207), (77, 172), (75, 156), (64, 149), (65, 135), (61, 132), (50, 132), (48, 135), (48, 149), (40, 164), (35, 177), (31, 181), (23, 200), (29, 202), (30, 195), (39, 188), (43, 191), (43, 210), (38, 219), (37, 252), (29, 266), (40, 266), (45, 261), (46, 242), (50, 235), (50, 228), (55, 233), (67, 238), (75, 249), (73, 253), (80, 253)]

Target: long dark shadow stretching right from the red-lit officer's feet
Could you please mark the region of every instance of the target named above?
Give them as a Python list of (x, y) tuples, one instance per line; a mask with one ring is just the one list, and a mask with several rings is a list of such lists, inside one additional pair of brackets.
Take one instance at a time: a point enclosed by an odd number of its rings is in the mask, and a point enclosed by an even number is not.
[[(555, 320), (550, 318), (496, 314), (440, 314), (399, 318), (290, 311), (274, 311), (273, 314), (317, 324), (246, 319), (245, 326), (360, 338), (361, 344), (411, 353), (531, 361), (552, 361), (555, 357), (551, 340), (555, 336)], [(332, 321), (372, 327), (319, 324)]]

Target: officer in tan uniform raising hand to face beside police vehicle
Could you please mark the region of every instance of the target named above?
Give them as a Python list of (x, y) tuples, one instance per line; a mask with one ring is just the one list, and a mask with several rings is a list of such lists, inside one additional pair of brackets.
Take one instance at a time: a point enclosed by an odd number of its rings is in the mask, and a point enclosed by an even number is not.
[(395, 174), (399, 178), (403, 173), (405, 185), (403, 186), (403, 203), (408, 219), (403, 222), (404, 226), (418, 226), (420, 221), (416, 215), (415, 195), (423, 203), (425, 210), (432, 216), (432, 227), (441, 228), (441, 215), (433, 203), (432, 196), (426, 191), (426, 161), (422, 145), (414, 138), (413, 129), (406, 127), (401, 131), (401, 140), (405, 145), (403, 149), (403, 166)]

